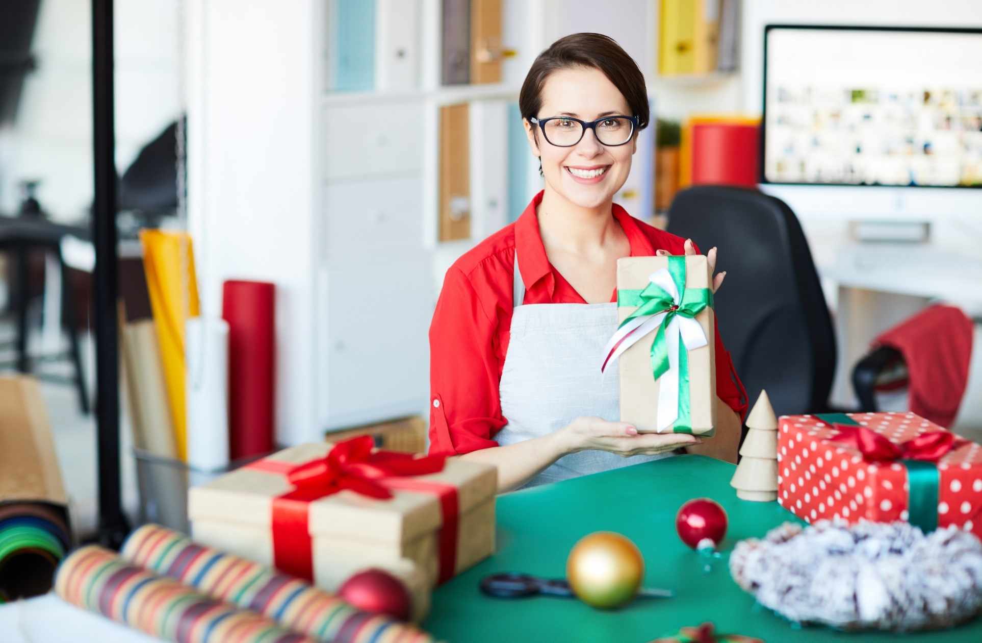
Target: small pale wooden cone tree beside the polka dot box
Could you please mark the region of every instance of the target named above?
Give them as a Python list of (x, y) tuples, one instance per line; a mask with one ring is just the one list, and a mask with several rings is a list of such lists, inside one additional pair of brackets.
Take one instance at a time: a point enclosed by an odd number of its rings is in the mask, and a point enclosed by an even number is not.
[(771, 407), (767, 391), (760, 391), (746, 419), (747, 431), (739, 449), (730, 486), (736, 489), (736, 497), (744, 500), (769, 502), (778, 498), (778, 419)]

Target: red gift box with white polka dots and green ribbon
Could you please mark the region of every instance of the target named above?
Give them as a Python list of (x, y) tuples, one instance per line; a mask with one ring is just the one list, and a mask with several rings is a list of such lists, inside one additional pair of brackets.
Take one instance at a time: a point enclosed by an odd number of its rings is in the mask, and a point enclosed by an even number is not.
[(778, 502), (808, 522), (904, 520), (982, 538), (982, 446), (912, 413), (782, 416)]

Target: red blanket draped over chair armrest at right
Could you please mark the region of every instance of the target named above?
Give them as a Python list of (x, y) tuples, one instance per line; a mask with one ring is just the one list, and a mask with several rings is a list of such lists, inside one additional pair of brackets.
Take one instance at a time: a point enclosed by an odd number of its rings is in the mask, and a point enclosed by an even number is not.
[(954, 306), (931, 306), (877, 337), (874, 346), (903, 355), (910, 411), (951, 427), (968, 380), (972, 321)]

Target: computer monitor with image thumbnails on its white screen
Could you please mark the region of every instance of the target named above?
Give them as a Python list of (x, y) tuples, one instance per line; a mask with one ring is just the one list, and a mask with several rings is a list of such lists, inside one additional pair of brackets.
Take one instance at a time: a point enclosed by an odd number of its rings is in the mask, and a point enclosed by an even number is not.
[(762, 189), (795, 210), (982, 205), (982, 29), (769, 25)]

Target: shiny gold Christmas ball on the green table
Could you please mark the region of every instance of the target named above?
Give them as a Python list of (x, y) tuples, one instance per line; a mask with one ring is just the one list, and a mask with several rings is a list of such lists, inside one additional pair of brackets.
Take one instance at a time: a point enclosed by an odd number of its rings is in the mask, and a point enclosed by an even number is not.
[(630, 602), (641, 586), (644, 558), (621, 534), (598, 531), (584, 536), (566, 561), (566, 577), (583, 603), (600, 609)]

